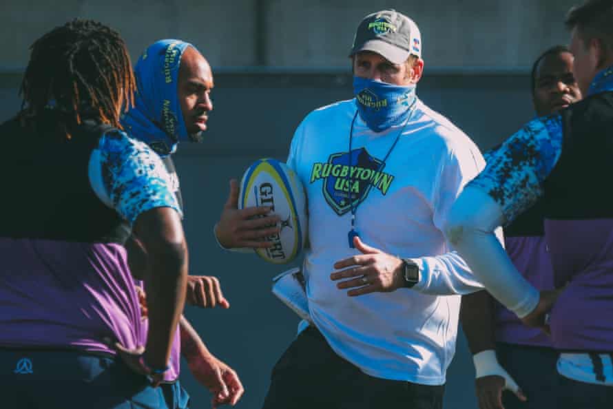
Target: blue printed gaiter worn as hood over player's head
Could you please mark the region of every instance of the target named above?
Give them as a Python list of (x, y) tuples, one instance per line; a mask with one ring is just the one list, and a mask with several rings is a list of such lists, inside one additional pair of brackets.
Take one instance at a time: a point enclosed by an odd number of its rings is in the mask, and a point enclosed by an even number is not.
[(134, 108), (123, 116), (122, 124), (160, 156), (174, 153), (180, 140), (191, 140), (177, 95), (179, 65), (187, 47), (194, 45), (173, 39), (156, 41), (134, 68)]

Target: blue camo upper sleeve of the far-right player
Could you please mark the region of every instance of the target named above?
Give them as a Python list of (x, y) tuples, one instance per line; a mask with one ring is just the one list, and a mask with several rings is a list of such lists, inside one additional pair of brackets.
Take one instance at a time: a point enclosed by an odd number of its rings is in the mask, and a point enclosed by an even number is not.
[(543, 196), (543, 182), (561, 151), (561, 116), (536, 118), (488, 151), (486, 169), (467, 186), (486, 191), (510, 223)]

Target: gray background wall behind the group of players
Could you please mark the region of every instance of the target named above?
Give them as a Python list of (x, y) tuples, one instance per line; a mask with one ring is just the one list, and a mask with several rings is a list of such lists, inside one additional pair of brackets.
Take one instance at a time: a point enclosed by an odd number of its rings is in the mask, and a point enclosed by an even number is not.
[[(258, 408), (269, 373), (295, 335), (298, 319), (270, 293), (281, 267), (256, 255), (225, 253), (212, 227), (229, 178), (257, 158), (284, 159), (293, 130), (311, 109), (351, 98), (346, 53), (368, 12), (393, 7), (422, 30), (426, 72), (418, 94), (486, 149), (532, 116), (528, 67), (543, 50), (568, 41), (561, 20), (574, 0), (402, 1), (90, 1), (2, 3), (0, 120), (19, 109), (17, 90), (34, 39), (72, 17), (120, 31), (132, 57), (165, 37), (191, 41), (216, 73), (215, 110), (201, 145), (181, 146), (176, 162), (186, 202), (191, 273), (216, 275), (225, 310), (187, 308), (207, 345), (235, 368), (246, 388), (238, 408)], [(448, 371), (447, 409), (476, 408), (474, 372), (464, 337)], [(182, 381), (194, 408), (209, 397), (187, 368)]]

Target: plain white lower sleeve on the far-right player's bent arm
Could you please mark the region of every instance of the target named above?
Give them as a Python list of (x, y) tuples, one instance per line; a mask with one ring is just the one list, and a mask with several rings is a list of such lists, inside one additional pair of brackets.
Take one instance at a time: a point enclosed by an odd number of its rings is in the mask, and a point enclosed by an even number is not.
[(499, 205), (490, 196), (467, 188), (453, 205), (445, 232), (490, 294), (524, 317), (537, 306), (539, 291), (517, 271), (492, 233), (502, 218)]

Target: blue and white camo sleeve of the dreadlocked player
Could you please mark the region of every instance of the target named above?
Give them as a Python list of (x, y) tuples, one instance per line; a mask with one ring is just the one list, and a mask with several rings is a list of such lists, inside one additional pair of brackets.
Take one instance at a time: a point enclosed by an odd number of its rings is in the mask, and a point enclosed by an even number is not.
[(101, 179), (110, 205), (130, 223), (156, 207), (181, 214), (164, 163), (149, 146), (124, 132), (105, 134), (98, 145)]

